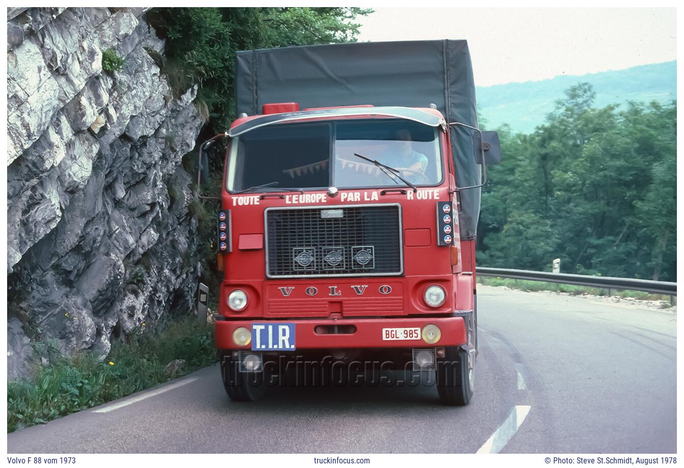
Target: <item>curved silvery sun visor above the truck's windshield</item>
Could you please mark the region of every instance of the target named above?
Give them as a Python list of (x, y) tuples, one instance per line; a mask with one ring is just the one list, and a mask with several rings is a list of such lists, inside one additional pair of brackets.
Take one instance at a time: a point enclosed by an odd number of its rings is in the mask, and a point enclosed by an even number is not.
[(411, 107), (354, 107), (347, 109), (321, 109), (317, 111), (288, 112), (263, 115), (244, 124), (239, 124), (228, 131), (229, 137), (237, 137), (255, 128), (286, 122), (305, 121), (309, 119), (333, 119), (341, 117), (389, 117), (412, 120), (428, 126), (443, 126), (444, 120), (429, 112)]

